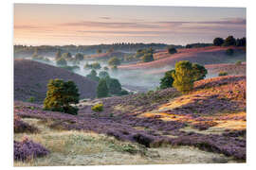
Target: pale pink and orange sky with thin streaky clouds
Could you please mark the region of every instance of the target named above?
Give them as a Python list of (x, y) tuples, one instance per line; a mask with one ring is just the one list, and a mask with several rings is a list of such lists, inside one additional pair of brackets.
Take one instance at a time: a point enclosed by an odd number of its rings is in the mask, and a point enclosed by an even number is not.
[(246, 8), (14, 4), (14, 44), (187, 44), (246, 37)]

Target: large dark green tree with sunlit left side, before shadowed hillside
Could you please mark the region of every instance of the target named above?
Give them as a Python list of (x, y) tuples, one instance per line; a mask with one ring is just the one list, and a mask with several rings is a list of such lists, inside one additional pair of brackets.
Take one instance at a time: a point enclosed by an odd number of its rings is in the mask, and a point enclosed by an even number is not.
[(73, 81), (62, 79), (50, 79), (47, 84), (45, 110), (62, 111), (69, 114), (77, 114), (78, 108), (70, 104), (79, 103), (79, 90)]

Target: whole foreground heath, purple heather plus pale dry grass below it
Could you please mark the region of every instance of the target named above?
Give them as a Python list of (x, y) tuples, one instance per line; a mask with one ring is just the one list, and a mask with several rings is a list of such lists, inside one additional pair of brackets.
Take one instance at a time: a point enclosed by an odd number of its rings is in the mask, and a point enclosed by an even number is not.
[[(96, 103), (103, 104), (101, 112), (91, 110)], [(44, 148), (34, 149), (38, 158), (14, 164), (246, 161), (246, 76), (200, 80), (186, 94), (169, 88), (81, 100), (77, 106), (78, 115), (70, 115), (15, 101), (15, 129), (22, 126), (28, 130), (15, 133), (14, 140), (32, 140)]]

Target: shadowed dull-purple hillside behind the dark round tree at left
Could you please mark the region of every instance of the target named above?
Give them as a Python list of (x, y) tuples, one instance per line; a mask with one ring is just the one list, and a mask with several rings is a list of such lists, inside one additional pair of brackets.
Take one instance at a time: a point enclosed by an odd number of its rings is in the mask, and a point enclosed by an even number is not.
[(84, 76), (34, 60), (14, 59), (14, 99), (25, 101), (33, 96), (37, 103), (42, 103), (51, 78), (73, 80), (81, 98), (96, 96), (97, 83)]

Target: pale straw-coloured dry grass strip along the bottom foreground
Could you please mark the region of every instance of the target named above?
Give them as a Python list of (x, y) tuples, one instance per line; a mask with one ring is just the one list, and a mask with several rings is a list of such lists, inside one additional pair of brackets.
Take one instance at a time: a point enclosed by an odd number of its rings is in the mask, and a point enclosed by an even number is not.
[(31, 118), (23, 120), (38, 127), (41, 133), (15, 134), (14, 139), (20, 141), (27, 136), (34, 142), (46, 146), (50, 154), (27, 162), (14, 161), (14, 166), (232, 162), (223, 155), (205, 152), (194, 147), (145, 148), (93, 132), (52, 129), (48, 127), (50, 121)]

